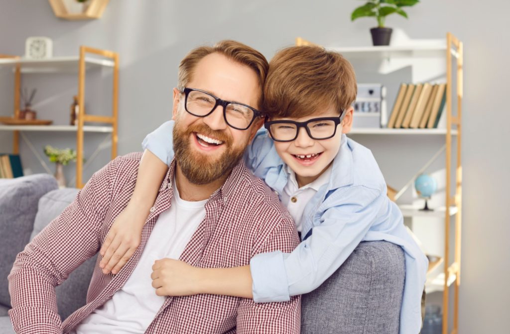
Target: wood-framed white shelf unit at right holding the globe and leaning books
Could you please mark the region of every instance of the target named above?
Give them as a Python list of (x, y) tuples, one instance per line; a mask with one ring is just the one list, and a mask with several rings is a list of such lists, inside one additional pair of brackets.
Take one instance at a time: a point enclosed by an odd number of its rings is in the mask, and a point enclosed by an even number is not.
[[(296, 38), (296, 45), (314, 45), (314, 43)], [(389, 141), (395, 144), (395, 137), (406, 138), (407, 141), (417, 137), (415, 141), (420, 145), (429, 145), (429, 142), (442, 141), (445, 145), (444, 154), (444, 200), (442, 207), (435, 207), (435, 211), (423, 212), (416, 204), (399, 204), (405, 221), (411, 221), (412, 226), (428, 233), (424, 244), (434, 239), (442, 248), (442, 260), (427, 274), (425, 290), (427, 293), (440, 291), (443, 294), (443, 328), (442, 333), (448, 333), (449, 318), (449, 287), (453, 286), (453, 326), (451, 333), (458, 332), (458, 290), (461, 282), (461, 222), (462, 222), (462, 99), (463, 99), (463, 44), (453, 34), (447, 33), (446, 40), (421, 40), (413, 43), (412, 40), (401, 46), (366, 46), (366, 47), (326, 47), (326, 49), (340, 52), (352, 63), (358, 74), (362, 68), (365, 80), (374, 82), (373, 78), (382, 78), (399, 71), (408, 71), (412, 82), (444, 82), (446, 83), (446, 105), (443, 112), (443, 122), (438, 128), (409, 129), (409, 128), (352, 128), (349, 135), (358, 140), (375, 137), (377, 141)], [(453, 64), (454, 63), (454, 64)], [(453, 73), (455, 72), (455, 76)], [(396, 96), (399, 83), (394, 82), (388, 87), (387, 96)], [(452, 93), (455, 85), (456, 91)], [(455, 94), (453, 97), (452, 95)], [(388, 101), (393, 103), (394, 99)], [(453, 104), (456, 113), (453, 114)], [(392, 110), (392, 105), (388, 106)], [(354, 117), (358, 117), (356, 114)], [(389, 115), (388, 115), (389, 116)], [(453, 145), (453, 139), (456, 145)], [(405, 140), (404, 140), (405, 141)], [(400, 141), (400, 142), (404, 142)], [(386, 152), (399, 150), (397, 146), (377, 146)], [(371, 148), (372, 149), (372, 148)], [(408, 148), (409, 149), (409, 148)], [(413, 159), (414, 152), (402, 154), (404, 159)], [(455, 159), (455, 163), (454, 163)], [(395, 161), (396, 163), (396, 161)], [(405, 163), (400, 163), (405, 168)], [(415, 171), (412, 171), (415, 172)], [(448, 210), (446, 210), (448, 208)], [(454, 222), (452, 228), (451, 223)], [(450, 235), (450, 230), (453, 234)], [(427, 234), (425, 233), (425, 234)], [(438, 238), (438, 235), (440, 236)], [(437, 247), (436, 247), (437, 248)], [(450, 256), (453, 253), (453, 256)]]

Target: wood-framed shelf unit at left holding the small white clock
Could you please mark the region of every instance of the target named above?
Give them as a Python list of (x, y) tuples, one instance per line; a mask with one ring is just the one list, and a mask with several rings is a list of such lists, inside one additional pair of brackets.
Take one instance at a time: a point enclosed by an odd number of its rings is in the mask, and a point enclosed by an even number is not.
[[(72, 57), (53, 57), (49, 59), (25, 59), (13, 55), (0, 54), (0, 68), (11, 67), (14, 72), (14, 111), (10, 117), (18, 118), (20, 110), (20, 81), (23, 73), (75, 73), (78, 76), (78, 104), (79, 110), (77, 125), (2, 125), (0, 131), (13, 131), (13, 153), (19, 154), (19, 136), (20, 132), (38, 131), (38, 132), (75, 132), (76, 133), (76, 186), (82, 188), (83, 182), (83, 146), (84, 134), (87, 133), (107, 133), (111, 134), (111, 157), (117, 156), (117, 129), (118, 129), (118, 53), (96, 49), (88, 46), (80, 46), (79, 55)], [(111, 68), (113, 70), (113, 94), (112, 94), (112, 112), (111, 115), (99, 116), (82, 113), (85, 110), (85, 78), (89, 70), (100, 68)], [(0, 106), (1, 107), (1, 106)], [(3, 114), (5, 115), (5, 114)], [(68, 113), (65, 116), (68, 118)], [(0, 120), (2, 119), (0, 118)], [(85, 125), (87, 123), (87, 125)], [(107, 124), (107, 125), (103, 125)], [(25, 139), (26, 137), (23, 136)], [(25, 139), (27, 141), (27, 139)], [(29, 147), (33, 147), (29, 142)], [(32, 149), (32, 148), (31, 148)], [(37, 152), (33, 152), (37, 155)]]

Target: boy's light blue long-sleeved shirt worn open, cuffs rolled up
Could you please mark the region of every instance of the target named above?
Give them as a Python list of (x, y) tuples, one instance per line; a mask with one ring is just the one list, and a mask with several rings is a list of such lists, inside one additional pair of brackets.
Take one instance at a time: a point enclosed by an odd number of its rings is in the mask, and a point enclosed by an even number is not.
[[(172, 130), (173, 121), (166, 122), (142, 144), (167, 164), (173, 158)], [(361, 241), (386, 240), (404, 250), (400, 333), (418, 333), (427, 258), (407, 233), (399, 208), (389, 200), (372, 152), (345, 134), (341, 141), (329, 182), (305, 206), (302, 242), (290, 254), (277, 251), (251, 259), (253, 300), (286, 301), (309, 293), (333, 274)], [(289, 174), (265, 130), (257, 133), (244, 159), (256, 176), (282, 193)]]

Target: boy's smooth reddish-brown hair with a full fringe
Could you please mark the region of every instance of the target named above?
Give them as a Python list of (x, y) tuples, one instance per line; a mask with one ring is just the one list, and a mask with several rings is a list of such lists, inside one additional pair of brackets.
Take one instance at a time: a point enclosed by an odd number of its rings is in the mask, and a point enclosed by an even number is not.
[(340, 114), (357, 91), (354, 69), (341, 54), (319, 46), (292, 46), (269, 63), (263, 110), (269, 118), (301, 118), (333, 105)]

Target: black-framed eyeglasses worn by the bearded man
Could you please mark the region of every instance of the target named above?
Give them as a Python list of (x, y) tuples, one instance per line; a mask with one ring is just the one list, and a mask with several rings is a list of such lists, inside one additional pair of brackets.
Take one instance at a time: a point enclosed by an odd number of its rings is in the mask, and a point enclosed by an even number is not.
[(196, 117), (206, 117), (216, 109), (218, 105), (223, 107), (223, 118), (228, 126), (238, 130), (246, 130), (262, 113), (247, 104), (225, 101), (211, 93), (194, 89), (182, 88), (185, 94), (184, 108), (188, 113)]

